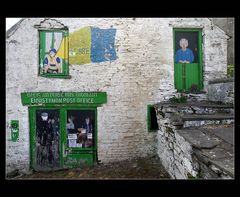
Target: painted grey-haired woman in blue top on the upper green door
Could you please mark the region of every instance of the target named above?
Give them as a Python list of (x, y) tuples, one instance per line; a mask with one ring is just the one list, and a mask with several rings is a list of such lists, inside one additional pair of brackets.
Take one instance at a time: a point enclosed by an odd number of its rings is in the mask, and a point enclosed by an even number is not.
[(176, 52), (176, 63), (192, 63), (194, 55), (191, 49), (188, 49), (188, 40), (182, 38), (179, 42), (181, 49)]

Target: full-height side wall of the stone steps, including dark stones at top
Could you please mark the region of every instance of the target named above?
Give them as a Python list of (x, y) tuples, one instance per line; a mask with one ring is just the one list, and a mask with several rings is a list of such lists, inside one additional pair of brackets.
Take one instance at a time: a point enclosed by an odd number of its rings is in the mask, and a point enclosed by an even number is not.
[(157, 154), (163, 166), (174, 179), (187, 179), (188, 174), (196, 177), (199, 166), (193, 165), (191, 144), (178, 133), (177, 129), (183, 123), (174, 116), (177, 110), (158, 106), (156, 113), (159, 125)]

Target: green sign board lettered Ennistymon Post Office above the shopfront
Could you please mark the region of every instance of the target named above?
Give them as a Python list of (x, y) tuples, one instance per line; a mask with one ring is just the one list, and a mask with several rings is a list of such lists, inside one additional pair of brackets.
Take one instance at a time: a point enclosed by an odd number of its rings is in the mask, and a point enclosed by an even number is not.
[(106, 92), (26, 92), (21, 93), (23, 105), (103, 104)]

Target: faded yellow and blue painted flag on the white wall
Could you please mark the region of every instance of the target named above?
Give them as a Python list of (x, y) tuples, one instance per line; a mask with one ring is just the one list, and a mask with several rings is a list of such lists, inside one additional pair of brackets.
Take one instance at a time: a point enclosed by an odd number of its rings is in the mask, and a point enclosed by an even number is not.
[(84, 27), (69, 36), (70, 64), (87, 64), (116, 60), (116, 29)]

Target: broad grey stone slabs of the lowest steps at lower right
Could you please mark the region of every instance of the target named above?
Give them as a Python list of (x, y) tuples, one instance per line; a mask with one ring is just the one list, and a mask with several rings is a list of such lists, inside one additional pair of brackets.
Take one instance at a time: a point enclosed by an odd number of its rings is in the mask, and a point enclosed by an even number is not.
[(205, 166), (207, 174), (234, 177), (234, 128), (233, 125), (213, 128), (185, 128), (178, 133), (193, 147), (193, 155)]

